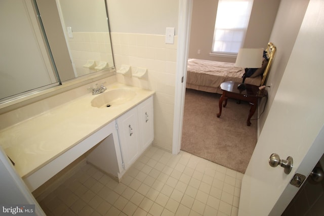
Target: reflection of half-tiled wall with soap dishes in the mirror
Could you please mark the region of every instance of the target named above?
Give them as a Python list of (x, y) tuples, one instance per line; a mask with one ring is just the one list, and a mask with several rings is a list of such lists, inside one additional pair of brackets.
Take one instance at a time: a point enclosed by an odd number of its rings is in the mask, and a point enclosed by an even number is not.
[(105, 0), (56, 0), (75, 77), (113, 67)]

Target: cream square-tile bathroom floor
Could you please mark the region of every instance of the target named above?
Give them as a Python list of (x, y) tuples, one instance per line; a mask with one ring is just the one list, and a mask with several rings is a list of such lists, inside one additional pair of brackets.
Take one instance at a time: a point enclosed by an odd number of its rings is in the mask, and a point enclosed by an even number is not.
[(39, 201), (47, 215), (237, 215), (243, 174), (150, 147), (117, 183), (84, 163)]

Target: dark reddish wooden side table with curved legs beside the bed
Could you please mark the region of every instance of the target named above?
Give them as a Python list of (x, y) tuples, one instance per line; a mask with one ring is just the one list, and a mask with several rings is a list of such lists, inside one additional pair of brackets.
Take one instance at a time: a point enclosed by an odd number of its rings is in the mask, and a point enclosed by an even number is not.
[(240, 83), (227, 81), (227, 82), (223, 82), (220, 85), (223, 94), (219, 99), (219, 113), (217, 114), (217, 117), (219, 118), (221, 116), (222, 107), (226, 107), (228, 98), (247, 101), (251, 104), (251, 109), (247, 120), (247, 125), (250, 126), (251, 117), (255, 113), (258, 106), (258, 99), (267, 96), (267, 91), (264, 89), (259, 90), (259, 87), (257, 85), (252, 85), (252, 84), (245, 84), (246, 85), (245, 90), (238, 90), (237, 89), (238, 84)]

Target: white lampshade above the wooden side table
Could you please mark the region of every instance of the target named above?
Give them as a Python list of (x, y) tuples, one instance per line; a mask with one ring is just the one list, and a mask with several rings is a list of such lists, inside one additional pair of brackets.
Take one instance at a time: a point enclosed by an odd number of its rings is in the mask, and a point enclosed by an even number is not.
[(263, 48), (258, 49), (239, 49), (235, 66), (243, 68), (262, 67)]

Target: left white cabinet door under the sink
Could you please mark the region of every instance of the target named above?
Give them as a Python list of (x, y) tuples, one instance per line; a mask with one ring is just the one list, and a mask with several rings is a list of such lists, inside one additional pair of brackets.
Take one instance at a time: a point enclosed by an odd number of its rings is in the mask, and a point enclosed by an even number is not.
[(133, 108), (120, 116), (117, 119), (117, 123), (121, 153), (123, 155), (125, 168), (128, 169), (138, 158), (140, 153), (137, 109)]

